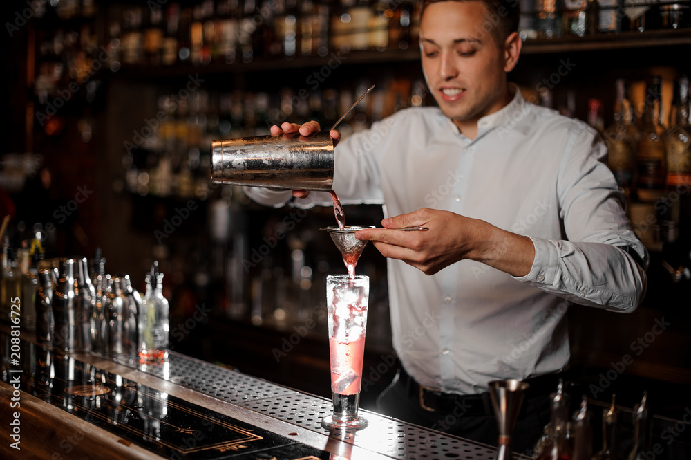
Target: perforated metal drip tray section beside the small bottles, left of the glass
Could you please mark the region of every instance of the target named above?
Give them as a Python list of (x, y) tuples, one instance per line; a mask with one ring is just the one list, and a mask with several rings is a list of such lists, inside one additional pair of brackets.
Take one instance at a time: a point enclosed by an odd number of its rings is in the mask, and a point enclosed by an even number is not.
[(169, 353), (168, 361), (164, 364), (140, 365), (129, 359), (116, 361), (230, 403), (294, 393), (292, 389), (266, 380), (172, 352)]

